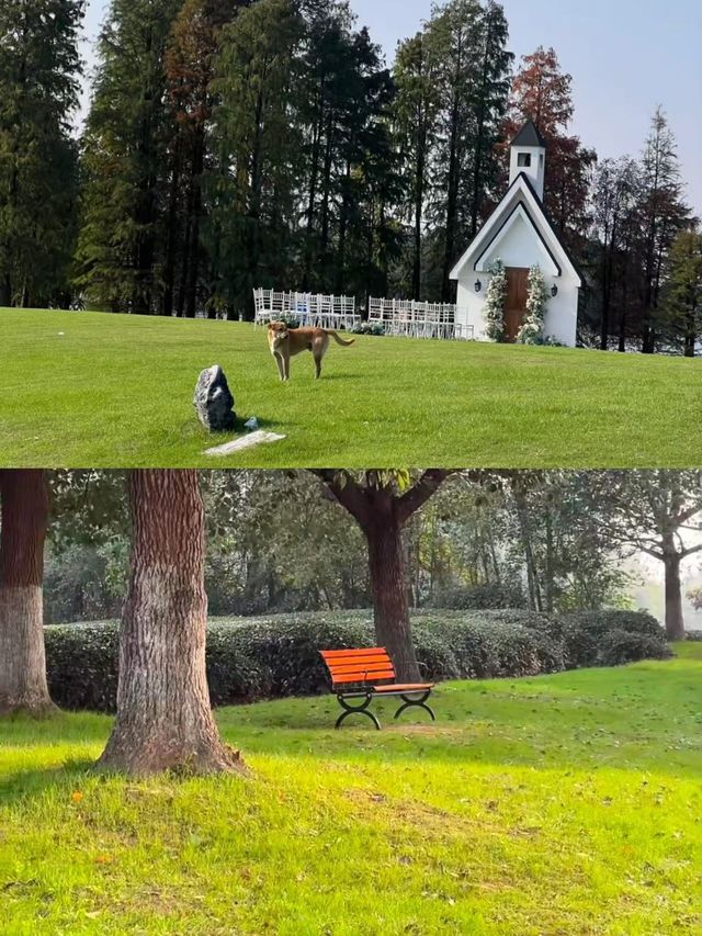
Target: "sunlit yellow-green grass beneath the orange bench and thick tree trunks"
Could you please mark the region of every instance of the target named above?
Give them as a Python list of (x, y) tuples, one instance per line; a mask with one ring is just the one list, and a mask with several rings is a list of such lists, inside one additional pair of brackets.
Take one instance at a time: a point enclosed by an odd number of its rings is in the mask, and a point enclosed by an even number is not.
[[(0, 728), (3, 934), (702, 932), (702, 645), (450, 684), (435, 724), (330, 697), (218, 713), (251, 777), (101, 778), (105, 717)], [(392, 722), (392, 720), (390, 720)]]

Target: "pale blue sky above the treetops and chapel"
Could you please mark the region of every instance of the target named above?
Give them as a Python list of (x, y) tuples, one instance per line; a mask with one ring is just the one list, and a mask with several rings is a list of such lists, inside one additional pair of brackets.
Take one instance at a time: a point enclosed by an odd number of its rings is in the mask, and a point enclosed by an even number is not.
[[(86, 56), (107, 0), (88, 0)], [(430, 0), (351, 0), (392, 63)], [(574, 133), (600, 158), (638, 155), (663, 104), (678, 139), (688, 201), (702, 215), (702, 2), (700, 0), (503, 0), (518, 58), (552, 45), (573, 75)]]

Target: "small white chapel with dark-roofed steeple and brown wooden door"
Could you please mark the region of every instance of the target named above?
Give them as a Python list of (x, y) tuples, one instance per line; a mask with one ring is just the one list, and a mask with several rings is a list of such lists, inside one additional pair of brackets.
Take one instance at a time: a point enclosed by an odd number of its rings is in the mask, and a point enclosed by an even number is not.
[(528, 279), (539, 266), (546, 283), (548, 304), (544, 335), (575, 348), (578, 298), (582, 278), (562, 243), (544, 206), (546, 144), (535, 124), (528, 121), (510, 144), (509, 189), (478, 232), (451, 279), (456, 280), (456, 324), (472, 328), (486, 341), (485, 298), (489, 270), (500, 260), (507, 271), (505, 334), (513, 341), (526, 311)]

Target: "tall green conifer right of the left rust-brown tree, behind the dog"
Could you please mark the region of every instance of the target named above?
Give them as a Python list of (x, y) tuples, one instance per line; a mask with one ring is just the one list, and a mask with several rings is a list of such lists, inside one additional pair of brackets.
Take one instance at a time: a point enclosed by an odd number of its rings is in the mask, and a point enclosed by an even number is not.
[(251, 290), (290, 278), (302, 174), (299, 48), (291, 0), (259, 0), (222, 36), (208, 244), (217, 306), (250, 311)]

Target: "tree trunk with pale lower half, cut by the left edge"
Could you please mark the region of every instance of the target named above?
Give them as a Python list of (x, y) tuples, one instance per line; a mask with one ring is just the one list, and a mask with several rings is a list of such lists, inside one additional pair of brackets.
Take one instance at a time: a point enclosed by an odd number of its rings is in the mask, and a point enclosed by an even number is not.
[(44, 472), (0, 471), (0, 713), (45, 714), (54, 706), (44, 651)]

